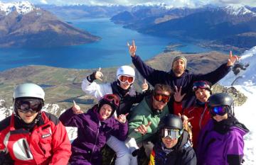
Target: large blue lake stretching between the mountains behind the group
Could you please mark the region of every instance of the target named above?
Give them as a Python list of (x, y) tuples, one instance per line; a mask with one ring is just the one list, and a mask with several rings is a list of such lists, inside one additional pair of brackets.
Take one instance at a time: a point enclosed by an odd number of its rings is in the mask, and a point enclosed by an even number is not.
[(191, 43), (181, 42), (174, 38), (158, 38), (137, 33), (134, 30), (122, 28), (122, 25), (112, 23), (108, 18), (70, 21), (75, 27), (85, 29), (102, 40), (86, 45), (69, 47), (24, 49), (0, 48), (0, 71), (26, 65), (47, 65), (76, 69), (98, 67), (116, 67), (131, 64), (127, 42), (135, 40), (137, 54), (142, 59), (150, 59), (169, 43), (184, 45), (176, 50), (182, 52), (208, 52), (209, 50)]

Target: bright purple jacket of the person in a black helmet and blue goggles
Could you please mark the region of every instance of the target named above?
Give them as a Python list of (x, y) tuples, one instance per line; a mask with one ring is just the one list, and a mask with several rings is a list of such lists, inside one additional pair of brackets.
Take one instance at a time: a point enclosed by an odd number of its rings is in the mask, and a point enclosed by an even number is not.
[[(235, 119), (236, 120), (236, 119)], [(236, 120), (237, 121), (237, 120)], [(243, 136), (247, 128), (240, 125), (230, 125), (226, 132), (219, 132), (213, 119), (203, 127), (198, 139), (198, 165), (231, 165), (241, 164), (243, 157)]]

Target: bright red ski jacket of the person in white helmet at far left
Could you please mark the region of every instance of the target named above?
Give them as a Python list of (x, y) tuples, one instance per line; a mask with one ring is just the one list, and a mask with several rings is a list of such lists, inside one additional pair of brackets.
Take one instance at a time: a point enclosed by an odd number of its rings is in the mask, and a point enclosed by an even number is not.
[(14, 114), (0, 122), (0, 151), (9, 152), (17, 165), (65, 165), (71, 144), (58, 118), (42, 112), (32, 132), (14, 127)]

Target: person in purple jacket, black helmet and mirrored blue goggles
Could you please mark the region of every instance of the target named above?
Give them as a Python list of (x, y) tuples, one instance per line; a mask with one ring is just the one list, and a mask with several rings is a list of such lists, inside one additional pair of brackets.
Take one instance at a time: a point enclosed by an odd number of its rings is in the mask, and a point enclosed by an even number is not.
[(247, 127), (234, 116), (233, 98), (215, 93), (208, 99), (210, 119), (201, 130), (196, 151), (198, 165), (238, 165), (242, 163)]

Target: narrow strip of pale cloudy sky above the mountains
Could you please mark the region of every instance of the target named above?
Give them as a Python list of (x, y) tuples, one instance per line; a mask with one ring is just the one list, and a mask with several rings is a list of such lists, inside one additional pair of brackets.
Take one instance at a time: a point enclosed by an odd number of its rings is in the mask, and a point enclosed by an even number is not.
[[(14, 2), (17, 0), (0, 0), (1, 2)], [(195, 8), (202, 5), (247, 5), (255, 6), (255, 0), (26, 0), (32, 4), (55, 4), (55, 5), (72, 5), (72, 4), (86, 4), (86, 5), (106, 5), (106, 4), (119, 4), (119, 5), (136, 5), (136, 4), (161, 4), (174, 7), (191, 7)]]

